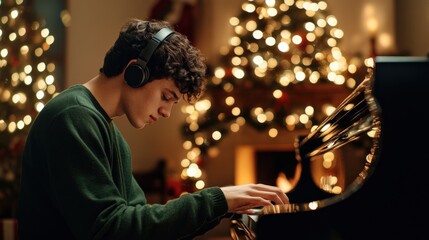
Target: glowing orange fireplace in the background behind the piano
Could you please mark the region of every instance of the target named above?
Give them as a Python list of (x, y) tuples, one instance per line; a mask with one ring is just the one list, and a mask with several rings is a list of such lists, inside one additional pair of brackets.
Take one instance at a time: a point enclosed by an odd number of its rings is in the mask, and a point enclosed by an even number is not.
[[(351, 146), (312, 158), (312, 181), (320, 189), (339, 194), (364, 167), (365, 156)], [(347, 159), (347, 161), (345, 161)], [(235, 184), (264, 183), (291, 191), (301, 177), (301, 163), (293, 144), (242, 145), (235, 152)]]

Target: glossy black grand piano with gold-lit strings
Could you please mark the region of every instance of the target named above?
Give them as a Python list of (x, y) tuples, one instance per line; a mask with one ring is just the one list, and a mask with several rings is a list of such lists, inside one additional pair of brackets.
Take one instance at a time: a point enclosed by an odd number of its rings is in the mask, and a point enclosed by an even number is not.
[[(375, 58), (334, 114), (297, 137), (291, 203), (235, 216), (232, 239), (429, 239), (428, 95), (428, 58)], [(352, 169), (343, 188), (313, 177), (327, 153)]]

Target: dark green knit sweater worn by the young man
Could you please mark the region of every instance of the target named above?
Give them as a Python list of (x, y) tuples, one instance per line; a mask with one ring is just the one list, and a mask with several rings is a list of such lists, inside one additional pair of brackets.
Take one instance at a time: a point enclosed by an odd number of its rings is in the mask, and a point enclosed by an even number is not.
[(218, 187), (148, 204), (123, 136), (82, 85), (35, 119), (22, 159), (20, 239), (192, 239), (227, 213)]

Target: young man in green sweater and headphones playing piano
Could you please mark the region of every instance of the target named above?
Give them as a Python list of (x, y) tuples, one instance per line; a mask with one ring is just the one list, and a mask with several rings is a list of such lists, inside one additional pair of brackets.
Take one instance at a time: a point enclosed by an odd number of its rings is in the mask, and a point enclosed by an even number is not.
[(131, 152), (112, 119), (142, 129), (204, 91), (205, 64), (166, 22), (132, 19), (100, 73), (63, 91), (40, 112), (22, 162), (20, 239), (191, 239), (227, 213), (288, 203), (263, 184), (210, 187), (148, 204)]

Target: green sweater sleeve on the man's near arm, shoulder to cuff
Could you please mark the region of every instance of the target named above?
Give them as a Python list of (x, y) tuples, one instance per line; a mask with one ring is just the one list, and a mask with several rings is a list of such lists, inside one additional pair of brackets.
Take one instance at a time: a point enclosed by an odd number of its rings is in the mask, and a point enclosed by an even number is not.
[(218, 187), (161, 205), (147, 204), (129, 181), (125, 189), (132, 198), (126, 199), (112, 176), (108, 125), (95, 113), (68, 109), (49, 129), (51, 198), (77, 239), (187, 239), (212, 228), (227, 212)]

